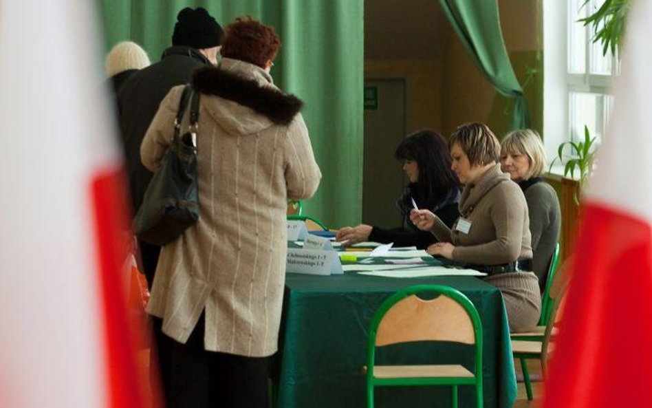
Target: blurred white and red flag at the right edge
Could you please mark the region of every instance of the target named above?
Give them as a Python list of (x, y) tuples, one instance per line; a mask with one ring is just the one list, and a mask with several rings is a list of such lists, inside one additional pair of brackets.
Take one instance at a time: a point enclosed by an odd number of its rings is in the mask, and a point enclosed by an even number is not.
[(583, 201), (545, 408), (652, 404), (652, 3), (633, 3), (613, 117)]

